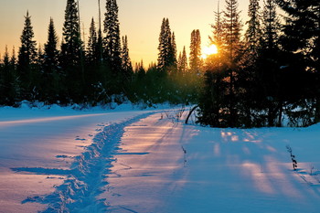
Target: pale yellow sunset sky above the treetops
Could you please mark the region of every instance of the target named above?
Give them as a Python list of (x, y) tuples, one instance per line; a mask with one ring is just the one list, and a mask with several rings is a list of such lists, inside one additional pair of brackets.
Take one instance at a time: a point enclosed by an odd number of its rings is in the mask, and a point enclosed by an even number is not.
[[(156, 62), (158, 38), (164, 17), (169, 18), (171, 30), (176, 35), (177, 52), (186, 46), (189, 52), (190, 35), (199, 29), (202, 48), (208, 46), (211, 35), (210, 24), (214, 23), (214, 11), (219, 0), (117, 0), (121, 36), (127, 35), (129, 54), (135, 62), (144, 60), (144, 66)], [(80, 22), (84, 37), (88, 40), (91, 17), (98, 23), (98, 0), (79, 0)], [(64, 11), (67, 0), (0, 0), (0, 52), (5, 46), (11, 53), (20, 47), (20, 36), (24, 27), (27, 10), (35, 33), (37, 45), (47, 42), (49, 18), (54, 19), (59, 40), (62, 37)], [(105, 0), (101, 0), (102, 19), (105, 13)], [(247, 20), (249, 0), (239, 0), (242, 22)], [(220, 0), (221, 9), (224, 0)]]

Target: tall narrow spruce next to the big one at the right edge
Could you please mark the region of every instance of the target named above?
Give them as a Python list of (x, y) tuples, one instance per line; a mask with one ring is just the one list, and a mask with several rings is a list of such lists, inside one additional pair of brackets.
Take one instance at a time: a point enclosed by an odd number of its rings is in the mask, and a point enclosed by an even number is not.
[[(275, 0), (265, 0), (262, 10), (261, 48), (256, 62), (256, 80), (262, 97), (261, 108), (266, 112), (268, 126), (281, 125), (283, 91), (281, 51), (279, 48), (280, 20)], [(282, 82), (281, 82), (282, 81)]]

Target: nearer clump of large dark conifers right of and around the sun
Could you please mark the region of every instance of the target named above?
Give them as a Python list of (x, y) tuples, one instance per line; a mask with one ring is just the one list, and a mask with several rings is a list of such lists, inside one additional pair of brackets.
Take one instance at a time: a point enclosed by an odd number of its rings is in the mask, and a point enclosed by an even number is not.
[[(283, 11), (283, 18), (277, 8)], [(215, 13), (198, 122), (306, 126), (320, 117), (320, 2), (250, 0), (244, 37), (237, 0)]]

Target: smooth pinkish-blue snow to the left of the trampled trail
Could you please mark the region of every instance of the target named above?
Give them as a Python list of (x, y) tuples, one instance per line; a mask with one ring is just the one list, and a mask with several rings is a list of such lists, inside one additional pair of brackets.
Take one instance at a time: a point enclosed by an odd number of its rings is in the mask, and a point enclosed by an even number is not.
[(54, 193), (68, 179), (70, 165), (92, 144), (94, 135), (110, 123), (147, 113), (130, 107), (111, 112), (11, 108), (0, 112), (1, 213), (46, 209), (42, 195)]

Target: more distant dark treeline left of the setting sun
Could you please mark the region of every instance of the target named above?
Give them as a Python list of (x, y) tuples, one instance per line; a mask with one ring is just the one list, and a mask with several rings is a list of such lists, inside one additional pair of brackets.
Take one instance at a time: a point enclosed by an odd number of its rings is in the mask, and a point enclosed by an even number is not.
[(200, 78), (189, 72), (186, 50), (176, 56), (176, 38), (167, 18), (161, 27), (158, 63), (145, 69), (143, 61), (132, 65), (128, 38), (120, 36), (116, 0), (106, 1), (98, 27), (92, 18), (87, 44), (80, 37), (78, 8), (77, 1), (67, 1), (60, 46), (50, 18), (48, 41), (37, 47), (27, 12), (17, 56), (15, 49), (9, 54), (5, 48), (1, 60), (0, 105), (15, 106), (24, 100), (88, 106), (197, 101)]

